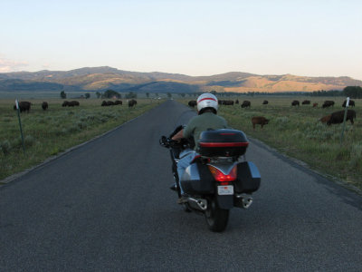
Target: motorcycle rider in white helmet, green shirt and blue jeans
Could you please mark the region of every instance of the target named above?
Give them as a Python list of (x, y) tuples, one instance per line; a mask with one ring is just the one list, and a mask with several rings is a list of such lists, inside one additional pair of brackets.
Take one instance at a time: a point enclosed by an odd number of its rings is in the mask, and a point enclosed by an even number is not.
[[(186, 125), (184, 129), (178, 131), (176, 135), (172, 137), (174, 141), (180, 141), (182, 138), (194, 137), (195, 150), (186, 149), (180, 153), (180, 160), (177, 163), (177, 175), (178, 180), (181, 180), (184, 171), (191, 161), (197, 155), (197, 140), (200, 138), (202, 131), (207, 130), (219, 130), (228, 128), (227, 122), (223, 117), (217, 115), (218, 102), (216, 96), (212, 93), (203, 93), (197, 98), (197, 114)], [(180, 184), (181, 198), (178, 199), (178, 203), (181, 204), (186, 201), (186, 195)]]

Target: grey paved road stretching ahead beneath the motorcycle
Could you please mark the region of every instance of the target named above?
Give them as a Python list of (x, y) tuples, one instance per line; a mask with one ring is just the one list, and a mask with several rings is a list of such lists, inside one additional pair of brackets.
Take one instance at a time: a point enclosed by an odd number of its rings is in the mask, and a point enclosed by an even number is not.
[(176, 204), (168, 101), (0, 188), (0, 271), (362, 271), (362, 198), (253, 142), (262, 174), (224, 233)]

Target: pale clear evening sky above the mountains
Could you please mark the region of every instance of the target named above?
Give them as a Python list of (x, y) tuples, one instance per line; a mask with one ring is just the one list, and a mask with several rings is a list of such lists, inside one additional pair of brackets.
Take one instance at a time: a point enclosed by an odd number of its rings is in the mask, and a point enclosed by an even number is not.
[(0, 73), (97, 66), (362, 80), (362, 1), (0, 2)]

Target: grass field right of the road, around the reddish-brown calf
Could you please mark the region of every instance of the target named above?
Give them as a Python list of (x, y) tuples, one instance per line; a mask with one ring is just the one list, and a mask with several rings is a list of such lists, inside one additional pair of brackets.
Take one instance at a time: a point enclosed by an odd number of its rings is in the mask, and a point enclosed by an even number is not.
[[(301, 105), (303, 100), (318, 102), (318, 108)], [(240, 98), (239, 98), (240, 100)], [(247, 98), (249, 109), (240, 105), (221, 106), (219, 114), (238, 130), (252, 138), (265, 142), (283, 154), (306, 162), (313, 170), (343, 180), (346, 184), (362, 189), (362, 100), (354, 100), (357, 112), (354, 125), (349, 121), (340, 144), (343, 124), (328, 126), (319, 119), (331, 112), (342, 111), (341, 97), (258, 97)], [(268, 100), (268, 105), (262, 105)], [(300, 107), (292, 107), (291, 101), (299, 100)], [(326, 100), (336, 102), (333, 108), (322, 109)], [(243, 102), (243, 101), (241, 101)], [(252, 129), (252, 117), (264, 116), (269, 124)]]

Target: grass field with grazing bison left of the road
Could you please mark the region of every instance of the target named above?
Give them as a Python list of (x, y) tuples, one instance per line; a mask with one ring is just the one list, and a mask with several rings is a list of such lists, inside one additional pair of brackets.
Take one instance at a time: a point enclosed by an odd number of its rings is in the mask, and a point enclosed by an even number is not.
[(26, 101), (33, 105), (29, 113), (21, 113), (24, 152), (14, 100), (0, 100), (0, 180), (110, 131), (162, 102), (138, 99), (134, 108), (127, 104), (101, 107), (101, 100), (83, 99), (78, 100), (79, 107), (62, 107), (61, 99), (46, 99), (49, 109), (43, 111), (43, 100)]

